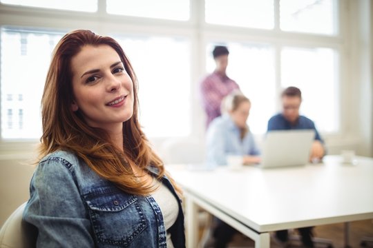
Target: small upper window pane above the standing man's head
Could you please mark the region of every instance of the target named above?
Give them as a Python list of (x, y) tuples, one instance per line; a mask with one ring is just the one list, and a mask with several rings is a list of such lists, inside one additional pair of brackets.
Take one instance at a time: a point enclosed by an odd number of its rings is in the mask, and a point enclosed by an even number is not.
[(207, 23), (274, 28), (274, 0), (205, 0)]

